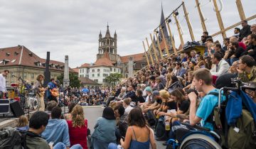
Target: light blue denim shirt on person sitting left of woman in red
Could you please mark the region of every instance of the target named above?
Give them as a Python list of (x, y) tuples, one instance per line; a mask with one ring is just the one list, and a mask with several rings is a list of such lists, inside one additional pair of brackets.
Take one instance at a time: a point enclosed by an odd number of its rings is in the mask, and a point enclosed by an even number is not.
[(68, 123), (64, 119), (49, 119), (46, 130), (43, 131), (41, 136), (48, 143), (53, 142), (53, 145), (62, 142), (67, 147), (70, 146)]

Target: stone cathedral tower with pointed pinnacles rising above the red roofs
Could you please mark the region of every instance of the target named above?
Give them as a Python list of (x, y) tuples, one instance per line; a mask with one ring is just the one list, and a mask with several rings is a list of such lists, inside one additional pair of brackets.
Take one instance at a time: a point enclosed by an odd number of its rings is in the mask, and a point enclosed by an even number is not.
[(109, 27), (110, 26), (107, 24), (107, 31), (104, 38), (102, 38), (102, 33), (100, 31), (97, 60), (100, 57), (103, 57), (105, 53), (108, 53), (110, 55), (110, 60), (117, 62), (119, 57), (119, 55), (117, 55), (117, 33), (114, 32), (114, 38), (112, 38)]

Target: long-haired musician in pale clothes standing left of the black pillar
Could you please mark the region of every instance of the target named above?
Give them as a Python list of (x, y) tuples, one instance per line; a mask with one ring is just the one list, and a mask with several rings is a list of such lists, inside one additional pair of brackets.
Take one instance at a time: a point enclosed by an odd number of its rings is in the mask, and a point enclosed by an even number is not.
[(44, 104), (44, 92), (47, 88), (43, 88), (42, 82), (43, 82), (44, 76), (42, 74), (38, 75), (36, 77), (36, 83), (34, 84), (35, 90), (36, 90), (36, 99), (38, 101), (38, 106), (36, 108), (37, 111), (45, 111), (45, 104)]

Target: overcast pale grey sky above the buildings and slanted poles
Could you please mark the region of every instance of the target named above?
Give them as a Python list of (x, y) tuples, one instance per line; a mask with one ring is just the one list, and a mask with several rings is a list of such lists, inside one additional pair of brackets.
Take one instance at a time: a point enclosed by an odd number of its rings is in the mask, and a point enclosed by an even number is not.
[[(219, 31), (213, 1), (200, 1), (204, 16), (208, 18), (208, 32)], [(163, 0), (162, 3), (166, 17), (181, 4), (181, 0)], [(242, 3), (245, 16), (256, 13), (256, 1)], [(199, 40), (202, 28), (196, 2), (185, 0), (185, 4), (195, 37)], [(183, 38), (190, 40), (183, 9), (178, 12)], [(224, 1), (221, 14), (225, 27), (240, 20), (235, 0)], [(0, 48), (25, 45), (43, 58), (46, 58), (46, 51), (50, 51), (50, 59), (61, 62), (65, 55), (69, 55), (70, 67), (77, 67), (85, 62), (95, 62), (99, 33), (102, 31), (105, 36), (107, 22), (112, 36), (117, 31), (119, 55), (143, 53), (142, 40), (150, 39), (149, 33), (159, 24), (160, 15), (160, 0), (0, 0)], [(256, 23), (256, 20), (250, 23)], [(171, 30), (178, 46), (174, 21)], [(227, 34), (232, 35), (232, 31)]]

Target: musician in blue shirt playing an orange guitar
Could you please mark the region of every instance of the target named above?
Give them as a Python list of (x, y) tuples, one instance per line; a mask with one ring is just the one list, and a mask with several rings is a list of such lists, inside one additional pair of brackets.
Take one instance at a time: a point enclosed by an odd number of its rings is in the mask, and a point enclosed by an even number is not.
[(55, 82), (54, 78), (50, 79), (50, 82), (48, 83), (48, 87), (49, 89), (47, 90), (47, 98), (49, 99), (49, 101), (57, 101), (57, 96), (59, 96), (58, 93), (58, 88), (57, 88), (57, 83)]

